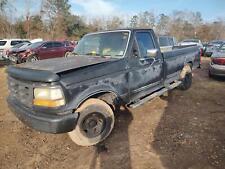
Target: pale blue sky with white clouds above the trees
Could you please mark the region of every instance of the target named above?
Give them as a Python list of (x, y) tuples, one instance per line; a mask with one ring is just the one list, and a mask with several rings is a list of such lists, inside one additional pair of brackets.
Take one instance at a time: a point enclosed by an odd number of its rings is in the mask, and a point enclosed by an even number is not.
[[(17, 16), (25, 13), (29, 0), (16, 0)], [(33, 1), (31, 13), (37, 13), (40, 0)], [(225, 0), (69, 0), (72, 12), (79, 15), (112, 16), (133, 15), (141, 11), (152, 11), (155, 14), (171, 14), (174, 10), (201, 12), (204, 20), (213, 21), (225, 18)]]

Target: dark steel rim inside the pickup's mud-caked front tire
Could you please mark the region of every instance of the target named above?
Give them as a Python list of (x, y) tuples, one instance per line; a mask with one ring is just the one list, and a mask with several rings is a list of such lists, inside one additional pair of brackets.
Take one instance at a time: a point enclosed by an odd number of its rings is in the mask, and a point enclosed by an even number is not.
[(99, 136), (105, 129), (105, 117), (98, 112), (87, 115), (82, 122), (82, 130), (89, 137)]

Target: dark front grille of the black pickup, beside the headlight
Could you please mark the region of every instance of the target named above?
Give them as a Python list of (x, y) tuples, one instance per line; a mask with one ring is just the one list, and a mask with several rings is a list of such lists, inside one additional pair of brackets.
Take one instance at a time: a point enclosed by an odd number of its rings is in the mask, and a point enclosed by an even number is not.
[(32, 85), (24, 81), (20, 81), (12, 77), (9, 77), (8, 87), (10, 91), (10, 96), (17, 99), (19, 102), (21, 102), (27, 107), (32, 106), (32, 100), (33, 100)]

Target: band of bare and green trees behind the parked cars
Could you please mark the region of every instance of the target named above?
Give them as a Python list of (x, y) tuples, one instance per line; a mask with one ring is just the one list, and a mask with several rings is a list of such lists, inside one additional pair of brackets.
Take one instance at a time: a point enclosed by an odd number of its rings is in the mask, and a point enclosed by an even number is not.
[[(29, 0), (27, 0), (29, 1)], [(200, 12), (173, 11), (156, 15), (151, 11), (134, 16), (91, 17), (75, 15), (68, 0), (42, 0), (38, 13), (12, 17), (10, 0), (0, 0), (0, 38), (43, 38), (79, 40), (93, 31), (118, 28), (152, 28), (158, 35), (170, 35), (178, 40), (199, 38), (202, 41), (225, 39), (225, 20), (203, 20)]]

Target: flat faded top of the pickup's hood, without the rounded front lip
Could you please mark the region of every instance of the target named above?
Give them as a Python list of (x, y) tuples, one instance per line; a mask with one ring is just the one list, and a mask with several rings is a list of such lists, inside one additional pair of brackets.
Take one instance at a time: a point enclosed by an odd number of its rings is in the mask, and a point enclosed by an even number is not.
[(73, 56), (68, 58), (46, 59), (33, 63), (20, 64), (19, 67), (33, 70), (45, 70), (52, 73), (62, 73), (72, 69), (118, 60), (93, 56)]

